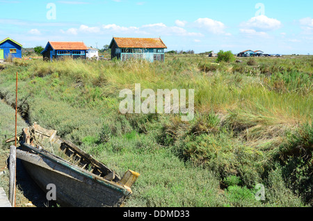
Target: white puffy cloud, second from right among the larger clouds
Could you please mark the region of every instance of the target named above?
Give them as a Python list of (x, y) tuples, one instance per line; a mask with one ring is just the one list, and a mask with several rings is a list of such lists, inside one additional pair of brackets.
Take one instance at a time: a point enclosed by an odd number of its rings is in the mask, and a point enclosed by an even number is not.
[(198, 28), (208, 31), (209, 33), (214, 34), (224, 34), (225, 24), (223, 22), (215, 21), (214, 19), (199, 18), (194, 22), (194, 25)]

